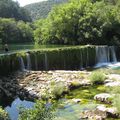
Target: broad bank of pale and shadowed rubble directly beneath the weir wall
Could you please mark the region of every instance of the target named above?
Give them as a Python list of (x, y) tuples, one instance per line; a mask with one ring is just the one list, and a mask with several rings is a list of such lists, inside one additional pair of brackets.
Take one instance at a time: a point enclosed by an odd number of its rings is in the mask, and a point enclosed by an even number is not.
[(86, 71), (24, 71), (17, 72), (8, 77), (1, 77), (1, 95), (8, 97), (40, 99), (46, 90), (49, 89), (51, 81), (63, 82), (70, 87), (73, 81), (77, 81), (80, 86), (90, 85), (86, 76), (90, 73)]

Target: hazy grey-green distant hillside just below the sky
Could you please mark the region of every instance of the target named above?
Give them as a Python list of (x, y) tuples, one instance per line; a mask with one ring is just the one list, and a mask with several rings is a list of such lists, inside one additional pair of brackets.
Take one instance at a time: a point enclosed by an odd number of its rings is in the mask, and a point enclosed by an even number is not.
[(48, 0), (29, 4), (26, 5), (24, 8), (26, 8), (31, 13), (31, 18), (34, 21), (40, 18), (46, 18), (53, 6), (65, 3), (67, 1), (68, 0)]

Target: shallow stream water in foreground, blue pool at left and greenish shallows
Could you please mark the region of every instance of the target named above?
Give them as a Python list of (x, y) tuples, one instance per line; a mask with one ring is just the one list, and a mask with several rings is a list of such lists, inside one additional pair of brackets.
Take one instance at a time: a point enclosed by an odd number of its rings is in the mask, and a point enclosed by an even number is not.
[[(105, 92), (103, 86), (83, 87), (70, 91), (69, 94), (66, 94), (59, 102), (57, 101), (59, 104), (58, 108), (56, 108), (56, 119), (80, 120), (81, 112), (94, 109), (98, 104), (101, 104), (94, 100), (94, 96), (102, 92)], [(75, 102), (75, 99), (80, 99), (80, 102)], [(31, 109), (33, 106), (34, 102), (16, 98), (11, 104), (9, 103), (9, 105), (5, 107), (5, 110), (8, 112), (11, 120), (17, 120), (19, 107)]]

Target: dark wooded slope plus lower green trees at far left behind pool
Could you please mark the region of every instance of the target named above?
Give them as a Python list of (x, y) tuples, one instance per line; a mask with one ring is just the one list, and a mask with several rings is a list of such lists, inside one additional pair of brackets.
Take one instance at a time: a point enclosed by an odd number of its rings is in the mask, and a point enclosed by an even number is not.
[(33, 40), (28, 11), (12, 0), (0, 0), (0, 44)]

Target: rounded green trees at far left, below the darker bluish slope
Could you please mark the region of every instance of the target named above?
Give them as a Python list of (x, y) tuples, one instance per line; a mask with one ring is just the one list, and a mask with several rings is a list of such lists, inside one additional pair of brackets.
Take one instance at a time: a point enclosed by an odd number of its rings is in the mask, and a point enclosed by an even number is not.
[(0, 41), (4, 43), (31, 42), (33, 31), (28, 23), (0, 18)]

